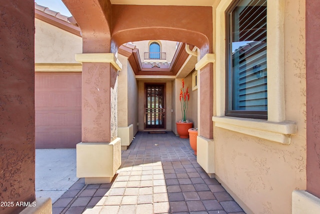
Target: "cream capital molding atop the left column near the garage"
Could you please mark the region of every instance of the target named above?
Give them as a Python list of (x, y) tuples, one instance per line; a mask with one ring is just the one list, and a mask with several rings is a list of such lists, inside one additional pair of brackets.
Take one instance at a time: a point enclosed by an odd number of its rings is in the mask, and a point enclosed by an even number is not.
[(112, 53), (75, 54), (75, 60), (80, 63), (111, 63), (117, 70), (122, 70), (122, 64)]

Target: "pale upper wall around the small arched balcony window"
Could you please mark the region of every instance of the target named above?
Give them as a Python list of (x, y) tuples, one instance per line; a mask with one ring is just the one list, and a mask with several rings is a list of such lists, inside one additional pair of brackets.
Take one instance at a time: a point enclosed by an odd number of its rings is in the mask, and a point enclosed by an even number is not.
[[(144, 52), (149, 52), (149, 42), (150, 41), (133, 42), (133, 44), (136, 45), (136, 48), (139, 49), (141, 62), (144, 62)], [(166, 53), (166, 62), (171, 62), (175, 53), (176, 42), (166, 40), (154, 40), (154, 42), (158, 42), (160, 44), (160, 52)]]

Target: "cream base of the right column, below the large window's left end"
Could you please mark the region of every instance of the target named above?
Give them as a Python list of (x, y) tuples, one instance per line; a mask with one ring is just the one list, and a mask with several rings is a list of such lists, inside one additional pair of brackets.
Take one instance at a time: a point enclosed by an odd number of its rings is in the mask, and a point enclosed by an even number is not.
[(204, 171), (214, 178), (214, 142), (202, 136), (196, 137), (196, 161)]

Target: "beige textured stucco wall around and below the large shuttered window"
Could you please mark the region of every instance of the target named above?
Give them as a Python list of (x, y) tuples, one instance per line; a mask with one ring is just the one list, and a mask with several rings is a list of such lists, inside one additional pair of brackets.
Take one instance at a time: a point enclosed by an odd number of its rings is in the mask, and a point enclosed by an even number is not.
[(305, 189), (304, 4), (304, 0), (283, 4), (285, 78), (280, 84), (285, 87), (285, 119), (297, 125), (291, 143), (283, 145), (218, 127), (213, 130), (216, 177), (248, 213), (291, 213), (292, 191)]

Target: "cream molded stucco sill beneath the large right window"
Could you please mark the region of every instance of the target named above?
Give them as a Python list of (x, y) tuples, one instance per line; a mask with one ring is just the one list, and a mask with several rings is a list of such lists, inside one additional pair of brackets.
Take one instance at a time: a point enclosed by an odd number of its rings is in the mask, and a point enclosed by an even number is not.
[(212, 117), (216, 127), (231, 131), (259, 137), (262, 139), (290, 144), (291, 135), (296, 134), (296, 124), (291, 121), (270, 122), (266, 120), (234, 118), (234, 117)]

